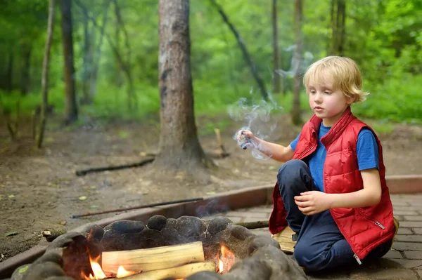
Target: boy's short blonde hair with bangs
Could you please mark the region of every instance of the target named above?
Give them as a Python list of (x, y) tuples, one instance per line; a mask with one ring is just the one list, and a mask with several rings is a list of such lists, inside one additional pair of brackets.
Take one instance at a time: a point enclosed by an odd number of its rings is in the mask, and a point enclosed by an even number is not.
[(356, 62), (350, 58), (341, 56), (327, 56), (308, 67), (303, 76), (303, 84), (309, 93), (309, 83), (324, 84), (327, 79), (332, 79), (333, 87), (339, 88), (347, 98), (354, 98), (355, 102), (366, 99), (366, 93), (362, 91), (362, 76)]

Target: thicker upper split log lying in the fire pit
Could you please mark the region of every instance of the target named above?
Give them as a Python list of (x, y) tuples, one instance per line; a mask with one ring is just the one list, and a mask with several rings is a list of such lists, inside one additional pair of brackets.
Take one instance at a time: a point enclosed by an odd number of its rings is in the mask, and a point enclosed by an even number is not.
[(147, 272), (203, 261), (203, 245), (197, 241), (149, 249), (103, 252), (101, 266), (105, 272), (116, 273), (120, 265), (129, 271)]

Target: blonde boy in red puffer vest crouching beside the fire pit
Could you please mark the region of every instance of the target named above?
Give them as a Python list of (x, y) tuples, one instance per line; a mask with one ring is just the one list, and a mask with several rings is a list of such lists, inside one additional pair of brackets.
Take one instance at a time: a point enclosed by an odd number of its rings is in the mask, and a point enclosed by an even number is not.
[(366, 95), (359, 68), (350, 58), (323, 58), (307, 69), (304, 84), (314, 115), (288, 147), (238, 133), (250, 138), (248, 147), (286, 162), (277, 175), (269, 230), (293, 229), (294, 257), (307, 271), (381, 258), (398, 225), (381, 143), (350, 111)]

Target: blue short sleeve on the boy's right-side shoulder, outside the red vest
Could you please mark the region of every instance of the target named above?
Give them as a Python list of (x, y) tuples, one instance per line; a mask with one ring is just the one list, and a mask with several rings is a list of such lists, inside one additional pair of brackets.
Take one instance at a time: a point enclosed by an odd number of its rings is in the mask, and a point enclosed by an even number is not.
[(378, 168), (379, 152), (375, 135), (369, 128), (362, 128), (357, 136), (356, 144), (357, 164), (359, 171)]

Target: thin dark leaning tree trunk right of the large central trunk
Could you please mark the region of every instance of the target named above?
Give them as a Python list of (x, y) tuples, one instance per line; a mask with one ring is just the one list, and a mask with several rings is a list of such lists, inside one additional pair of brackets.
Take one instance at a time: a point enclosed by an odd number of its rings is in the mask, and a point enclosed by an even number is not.
[(268, 100), (268, 93), (267, 93), (267, 89), (265, 88), (264, 81), (261, 79), (260, 74), (258, 74), (257, 68), (255, 67), (255, 64), (252, 62), (252, 59), (250, 58), (248, 49), (246, 48), (245, 43), (243, 43), (243, 39), (241, 39), (241, 36), (237, 32), (236, 28), (234, 27), (234, 25), (231, 24), (231, 22), (229, 21), (229, 17), (227, 17), (226, 13), (224, 13), (223, 11), (223, 8), (219, 6), (217, 1), (211, 0), (211, 3), (217, 8), (219, 14), (222, 15), (224, 22), (226, 22), (226, 24), (229, 25), (231, 32), (233, 32), (234, 36), (236, 37), (239, 48), (241, 48), (241, 51), (243, 53), (243, 58), (245, 58), (250, 68), (250, 71), (252, 72), (252, 76), (254, 77), (255, 81), (257, 81), (258, 87), (260, 88), (260, 91), (262, 94), (262, 98), (264, 98), (264, 100)]

